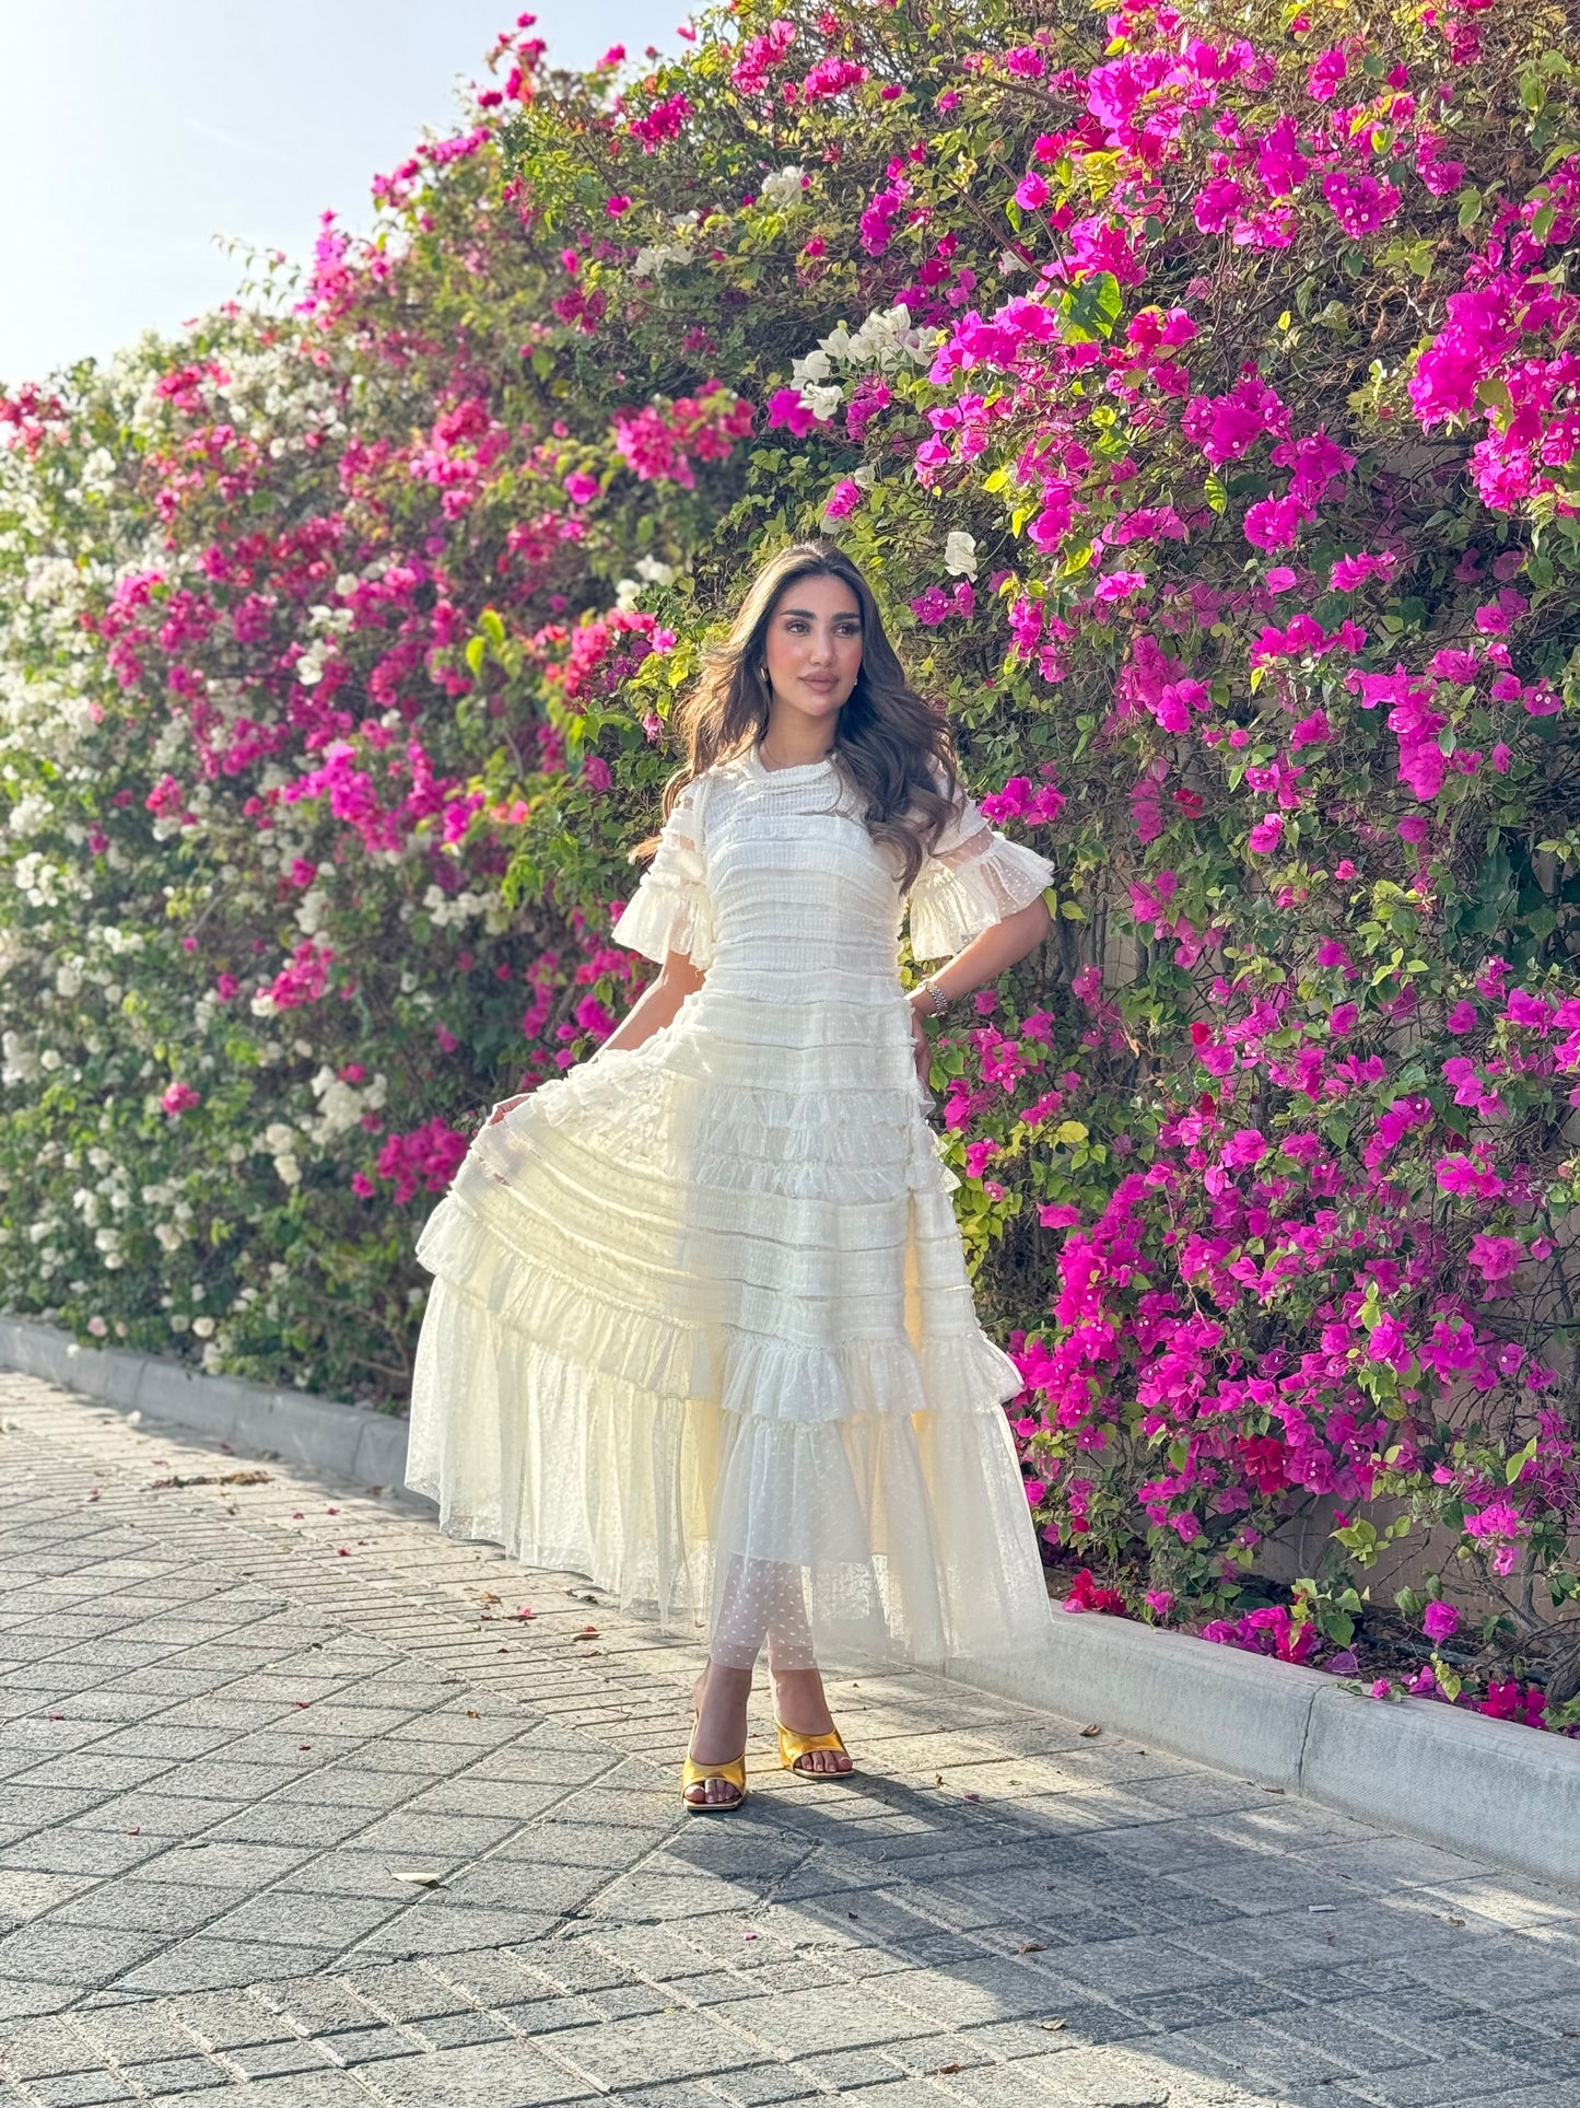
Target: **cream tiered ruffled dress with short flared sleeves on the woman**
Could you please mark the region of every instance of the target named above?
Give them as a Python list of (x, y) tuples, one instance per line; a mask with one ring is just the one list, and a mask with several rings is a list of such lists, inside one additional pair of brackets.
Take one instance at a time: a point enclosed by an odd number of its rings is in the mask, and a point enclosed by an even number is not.
[[(914, 955), (1051, 877), (963, 797), (908, 896)], [(832, 759), (712, 767), (615, 925), (702, 989), (485, 1126), (417, 1242), (407, 1484), (725, 1661), (942, 1663), (1049, 1619), (904, 906)]]

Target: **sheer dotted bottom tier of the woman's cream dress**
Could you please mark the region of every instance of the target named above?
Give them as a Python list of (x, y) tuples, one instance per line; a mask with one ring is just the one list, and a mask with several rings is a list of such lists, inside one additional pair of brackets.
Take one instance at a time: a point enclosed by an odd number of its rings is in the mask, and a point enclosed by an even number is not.
[[(731, 1414), (510, 1332), (434, 1286), (407, 1486), (440, 1526), (693, 1636), (739, 1570), (801, 1575), (819, 1655), (942, 1665), (1049, 1619), (1003, 1412)], [(466, 1395), (466, 1421), (442, 1410)], [(531, 1398), (531, 1414), (520, 1400)], [(1015, 1522), (1013, 1533), (1005, 1526)]]

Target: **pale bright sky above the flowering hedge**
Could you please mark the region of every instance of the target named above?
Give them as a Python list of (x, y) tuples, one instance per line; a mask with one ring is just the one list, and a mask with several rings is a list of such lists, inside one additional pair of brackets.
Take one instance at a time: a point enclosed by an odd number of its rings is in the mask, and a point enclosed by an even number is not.
[[(318, 215), (455, 129), (457, 80), (527, 0), (0, 0), (0, 386), (177, 331), (242, 247), (305, 259)], [(687, 0), (544, 0), (556, 65), (685, 48)]]

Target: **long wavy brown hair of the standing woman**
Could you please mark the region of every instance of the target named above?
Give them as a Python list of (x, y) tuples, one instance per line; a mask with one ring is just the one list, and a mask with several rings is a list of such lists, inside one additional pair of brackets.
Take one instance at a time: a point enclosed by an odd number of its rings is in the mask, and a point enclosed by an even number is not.
[[(756, 668), (767, 656), (767, 628), (779, 594), (801, 578), (843, 580), (862, 609), (862, 668), (838, 713), (830, 755), (866, 799), (868, 835), (897, 852), (900, 883), (908, 887), (950, 816), (959, 784), (954, 744), (944, 713), (906, 679), (872, 588), (832, 542), (794, 542), (769, 557), (729, 637), (704, 647), (702, 672), (676, 710), (687, 759), (664, 784), (664, 818), (689, 782), (714, 761), (746, 753), (767, 731), (769, 689)], [(630, 852), (632, 860), (651, 856), (657, 843), (659, 837), (649, 835)]]

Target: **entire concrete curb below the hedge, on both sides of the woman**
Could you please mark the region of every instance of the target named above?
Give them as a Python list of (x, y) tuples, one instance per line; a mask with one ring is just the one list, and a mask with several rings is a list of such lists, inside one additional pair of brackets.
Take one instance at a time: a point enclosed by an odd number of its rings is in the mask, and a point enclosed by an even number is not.
[[(34, 1318), (0, 1318), (0, 1368), (196, 1429), (238, 1457), (373, 1486), (404, 1480), (407, 1423), (394, 1414), (78, 1347)], [(1561, 1735), (1424, 1699), (1380, 1703), (1317, 1670), (1058, 1608), (1034, 1653), (963, 1659), (950, 1676), (1382, 1830), (1580, 1885), (1580, 1743)]]

